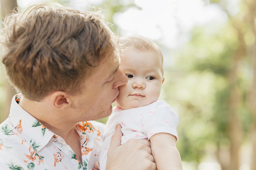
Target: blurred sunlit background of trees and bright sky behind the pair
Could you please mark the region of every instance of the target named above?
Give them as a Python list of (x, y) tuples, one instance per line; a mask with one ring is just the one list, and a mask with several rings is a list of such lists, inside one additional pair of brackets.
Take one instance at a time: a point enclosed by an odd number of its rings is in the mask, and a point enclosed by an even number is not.
[[(7, 2), (22, 11), (47, 1), (1, 0), (2, 18)], [(139, 34), (160, 46), (166, 78), (160, 99), (180, 117), (183, 169), (256, 169), (255, 0), (56, 2), (78, 10), (99, 6), (117, 34)], [(0, 75), (2, 122), (15, 92)]]

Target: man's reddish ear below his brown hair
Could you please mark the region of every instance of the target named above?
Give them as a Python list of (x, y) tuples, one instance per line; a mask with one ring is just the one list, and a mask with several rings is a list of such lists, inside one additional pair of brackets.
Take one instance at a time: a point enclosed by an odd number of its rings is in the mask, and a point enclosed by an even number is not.
[(54, 105), (56, 108), (65, 109), (70, 107), (67, 97), (67, 92), (56, 91), (51, 94), (50, 101), (51, 104)]

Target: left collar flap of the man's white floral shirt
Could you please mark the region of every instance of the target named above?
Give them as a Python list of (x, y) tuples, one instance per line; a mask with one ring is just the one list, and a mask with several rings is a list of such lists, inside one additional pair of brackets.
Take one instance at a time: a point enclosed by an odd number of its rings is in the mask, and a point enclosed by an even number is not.
[(20, 96), (21, 94), (15, 95), (11, 101), (9, 116), (11, 124), (16, 129), (16, 133), (20, 133), (27, 142), (30, 142), (34, 150), (40, 151), (55, 134), (19, 106)]

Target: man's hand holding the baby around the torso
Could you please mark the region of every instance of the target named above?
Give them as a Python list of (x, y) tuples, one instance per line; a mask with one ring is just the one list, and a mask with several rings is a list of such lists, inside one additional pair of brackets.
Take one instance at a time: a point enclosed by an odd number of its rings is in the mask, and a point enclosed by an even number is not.
[(115, 126), (109, 151), (107, 170), (155, 170), (155, 160), (151, 153), (150, 141), (146, 139), (130, 139), (121, 145), (121, 126)]

